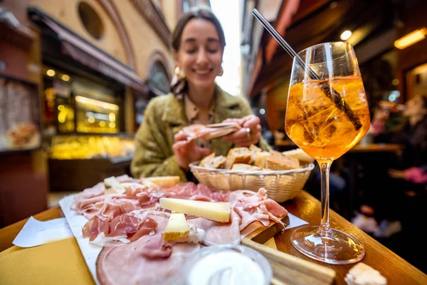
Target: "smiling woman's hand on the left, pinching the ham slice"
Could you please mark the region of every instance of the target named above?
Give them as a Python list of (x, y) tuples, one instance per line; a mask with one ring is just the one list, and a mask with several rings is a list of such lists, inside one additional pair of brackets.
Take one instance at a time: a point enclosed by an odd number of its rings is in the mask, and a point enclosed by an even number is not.
[(172, 145), (176, 162), (184, 171), (189, 171), (189, 164), (196, 160), (201, 160), (206, 155), (211, 153), (211, 150), (206, 147), (199, 147), (194, 140), (188, 141), (189, 134), (183, 132), (176, 133), (174, 136), (175, 143)]

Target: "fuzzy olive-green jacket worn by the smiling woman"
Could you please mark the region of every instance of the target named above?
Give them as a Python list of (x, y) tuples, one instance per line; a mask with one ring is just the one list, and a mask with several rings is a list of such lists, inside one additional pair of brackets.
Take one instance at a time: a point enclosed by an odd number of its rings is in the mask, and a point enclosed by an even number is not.
[[(242, 118), (251, 115), (252, 110), (245, 98), (232, 96), (220, 88), (215, 100), (214, 123), (221, 123), (226, 118)], [(131, 170), (134, 177), (151, 177), (176, 175), (181, 182), (186, 181), (186, 173), (176, 162), (172, 145), (174, 135), (188, 125), (184, 102), (172, 93), (153, 98), (145, 110), (144, 122), (135, 135), (135, 157)], [(263, 150), (269, 150), (263, 138), (258, 144)], [(212, 140), (211, 150), (216, 155), (227, 155), (234, 147), (230, 142)]]

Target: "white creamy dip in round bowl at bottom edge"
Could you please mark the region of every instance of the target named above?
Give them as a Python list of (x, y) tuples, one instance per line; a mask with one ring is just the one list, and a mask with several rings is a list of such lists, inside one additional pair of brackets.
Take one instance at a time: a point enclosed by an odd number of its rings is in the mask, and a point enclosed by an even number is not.
[(201, 258), (187, 275), (189, 285), (259, 285), (264, 272), (250, 257), (233, 250), (213, 252)]

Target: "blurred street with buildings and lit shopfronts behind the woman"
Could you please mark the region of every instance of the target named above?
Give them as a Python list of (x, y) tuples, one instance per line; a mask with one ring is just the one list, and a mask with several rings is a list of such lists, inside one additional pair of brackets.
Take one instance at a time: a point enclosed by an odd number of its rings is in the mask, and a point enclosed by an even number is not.
[[(284, 131), (292, 59), (254, 8), (296, 51), (351, 43), (371, 116), (389, 112), (385, 128), (402, 122), (399, 104), (427, 94), (427, 1), (0, 0), (0, 227), (130, 174), (144, 109), (170, 90), (171, 32), (198, 5), (210, 6), (226, 33), (218, 85), (251, 102), (276, 150), (295, 148)], [(381, 169), (402, 152), (388, 142), (380, 147), (369, 133), (334, 162), (332, 209), (350, 220), (366, 192), (386, 187)], [(316, 171), (306, 190), (320, 196)]]

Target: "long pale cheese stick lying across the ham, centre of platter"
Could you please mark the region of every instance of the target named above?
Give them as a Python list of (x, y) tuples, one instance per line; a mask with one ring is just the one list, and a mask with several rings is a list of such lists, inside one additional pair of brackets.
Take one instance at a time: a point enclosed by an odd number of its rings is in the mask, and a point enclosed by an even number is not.
[(187, 199), (160, 198), (160, 207), (171, 211), (204, 217), (216, 222), (230, 221), (230, 205), (225, 202), (204, 202)]

